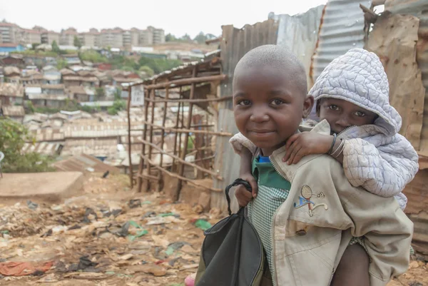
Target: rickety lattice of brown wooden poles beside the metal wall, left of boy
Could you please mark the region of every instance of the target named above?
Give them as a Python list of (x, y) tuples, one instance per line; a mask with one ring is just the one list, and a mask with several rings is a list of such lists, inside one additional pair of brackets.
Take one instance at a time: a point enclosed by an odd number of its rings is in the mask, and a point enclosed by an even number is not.
[[(128, 86), (128, 157), (131, 162), (131, 131), (135, 133), (135, 131), (142, 132), (141, 141), (141, 154), (140, 154), (140, 162), (138, 165), (138, 172), (134, 173), (132, 170), (132, 164), (130, 163), (130, 180), (131, 186), (133, 186), (134, 176), (136, 177), (137, 188), (138, 191), (141, 190), (149, 190), (151, 188), (151, 183), (157, 184), (157, 190), (161, 190), (163, 188), (163, 175), (169, 175), (173, 178), (178, 179), (178, 184), (175, 192), (175, 200), (178, 200), (180, 197), (180, 190), (182, 187), (182, 182), (188, 182), (192, 185), (205, 188), (213, 191), (221, 191), (212, 187), (207, 187), (203, 184), (198, 183), (197, 180), (193, 180), (191, 178), (186, 178), (184, 175), (185, 166), (189, 166), (198, 170), (198, 174), (202, 174), (200, 178), (203, 178), (203, 174), (210, 175), (212, 178), (216, 178), (218, 180), (223, 180), (218, 173), (211, 170), (206, 162), (208, 160), (213, 160), (214, 155), (205, 156), (204, 150), (208, 149), (207, 146), (203, 145), (195, 145), (195, 161), (193, 163), (185, 160), (186, 155), (188, 155), (187, 142), (189, 140), (189, 134), (194, 133), (196, 136), (228, 136), (231, 137), (233, 134), (225, 133), (225, 132), (216, 132), (210, 131), (208, 128), (213, 127), (213, 125), (205, 124), (195, 124), (193, 123), (193, 110), (194, 106), (198, 105), (200, 108), (207, 108), (209, 103), (214, 103), (218, 101), (228, 101), (232, 97), (218, 97), (217, 96), (217, 86), (220, 84), (220, 81), (223, 81), (226, 78), (225, 75), (222, 74), (219, 53), (211, 53), (210, 56), (203, 61), (188, 63), (185, 66), (180, 66), (178, 68), (174, 68), (171, 71), (165, 71), (160, 73), (152, 78), (148, 78), (144, 81), (131, 83)], [(131, 129), (131, 116), (130, 108), (131, 108), (131, 88), (133, 86), (143, 85), (144, 86), (144, 94), (145, 94), (145, 104), (144, 104), (144, 121), (142, 122), (144, 127), (143, 130)], [(202, 90), (203, 85), (208, 85), (210, 91), (215, 90), (215, 97), (207, 98), (207, 93), (205, 92), (197, 92)], [(170, 98), (170, 91), (178, 90), (179, 98)], [(205, 88), (206, 89), (206, 88)], [(156, 91), (164, 91), (165, 96), (159, 98), (161, 96), (156, 95)], [(213, 95), (213, 92), (210, 93)], [(156, 98), (158, 97), (158, 98)], [(165, 127), (168, 103), (174, 103), (175, 106), (178, 103), (178, 112), (175, 118), (175, 126), (174, 128)], [(163, 116), (161, 125), (155, 124), (155, 106), (161, 105), (163, 108)], [(188, 105), (188, 114), (184, 116), (184, 106)], [(169, 106), (169, 107), (170, 107)], [(208, 109), (205, 109), (207, 114), (209, 113)], [(150, 111), (150, 112), (149, 112)], [(149, 118), (150, 114), (150, 118)], [(181, 117), (180, 117), (181, 116)], [(159, 119), (159, 118), (158, 118)], [(215, 119), (216, 120), (216, 119)], [(198, 128), (198, 129), (194, 129)], [(205, 130), (203, 130), (205, 129)], [(153, 143), (153, 131), (161, 130), (161, 142), (160, 146)], [(168, 153), (163, 150), (165, 133), (173, 133), (175, 134), (174, 147), (173, 152)], [(184, 135), (184, 148), (180, 148), (182, 145), (182, 136)], [(153, 149), (157, 151), (158, 154), (161, 154), (160, 162), (156, 164), (153, 161), (152, 155)], [(181, 150), (180, 150), (181, 149)], [(165, 166), (163, 164), (163, 156), (169, 156), (172, 158), (173, 163), (171, 165)]]

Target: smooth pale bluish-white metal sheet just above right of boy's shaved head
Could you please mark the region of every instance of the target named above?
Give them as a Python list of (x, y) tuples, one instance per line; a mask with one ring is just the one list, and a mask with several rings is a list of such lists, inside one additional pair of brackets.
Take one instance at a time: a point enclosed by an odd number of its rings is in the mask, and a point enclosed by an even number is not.
[[(290, 15), (275, 15), (279, 21), (277, 45), (284, 46), (295, 53), (305, 66), (307, 82), (310, 83), (309, 71), (312, 55), (318, 39), (320, 21), (324, 5), (308, 10), (306, 13)], [(308, 86), (310, 88), (311, 86)]]

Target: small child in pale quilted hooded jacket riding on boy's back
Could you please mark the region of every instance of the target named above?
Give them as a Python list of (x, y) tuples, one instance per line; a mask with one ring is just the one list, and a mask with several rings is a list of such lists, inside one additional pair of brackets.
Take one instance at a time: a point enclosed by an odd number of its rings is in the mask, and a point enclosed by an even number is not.
[[(329, 154), (343, 165), (345, 175), (353, 186), (361, 186), (384, 197), (395, 195), (400, 208), (404, 209), (407, 198), (401, 191), (417, 173), (418, 157), (412, 145), (397, 133), (401, 127), (401, 118), (389, 106), (388, 93), (387, 76), (374, 53), (353, 49), (332, 61), (310, 91), (317, 101), (316, 114), (321, 121), (330, 123), (330, 133), (293, 134), (287, 139), (282, 160), (289, 165), (298, 163), (305, 155)], [(251, 103), (240, 102), (240, 105), (246, 104)], [(245, 134), (243, 131), (241, 133)], [(257, 144), (250, 136), (255, 133), (247, 132), (250, 140), (241, 133), (230, 142), (242, 158), (240, 177), (251, 183), (253, 194), (240, 188), (235, 195), (242, 206), (247, 205), (253, 197), (256, 198), (249, 205), (252, 218), (252, 209), (255, 205), (261, 205), (256, 197), (258, 186), (253, 175), (255, 170), (260, 169), (258, 165), (265, 168), (265, 165), (272, 164), (264, 156), (259, 156), (258, 162), (256, 159), (252, 163)], [(265, 136), (269, 131), (262, 130), (260, 133)], [(263, 191), (260, 200), (269, 200), (269, 196), (265, 198), (265, 193), (270, 192), (265, 188), (266, 180), (260, 175), (256, 177)], [(272, 181), (272, 177), (269, 180)], [(282, 196), (282, 200), (287, 198), (287, 192), (278, 192), (276, 200), (278, 195)], [(263, 207), (270, 208), (270, 205), (264, 203)], [(253, 220), (253, 223), (258, 225), (259, 218)], [(352, 283), (355, 282), (355, 285), (370, 285), (365, 240), (354, 238), (350, 245), (337, 267), (332, 285), (354, 285)]]

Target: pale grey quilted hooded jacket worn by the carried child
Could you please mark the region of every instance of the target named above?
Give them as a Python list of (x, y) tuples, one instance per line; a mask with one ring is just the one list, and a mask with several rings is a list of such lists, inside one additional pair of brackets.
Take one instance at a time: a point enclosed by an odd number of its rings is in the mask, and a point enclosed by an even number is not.
[[(376, 54), (354, 48), (333, 60), (317, 78), (310, 95), (350, 101), (379, 117), (373, 125), (355, 126), (340, 135), (347, 139), (343, 168), (350, 183), (383, 197), (395, 196), (404, 209), (402, 193), (416, 175), (418, 155), (404, 136), (399, 135), (402, 118), (389, 105), (389, 83)], [(315, 107), (311, 118), (316, 117)], [(243, 147), (254, 152), (255, 145), (241, 133), (230, 139), (235, 152)]]

